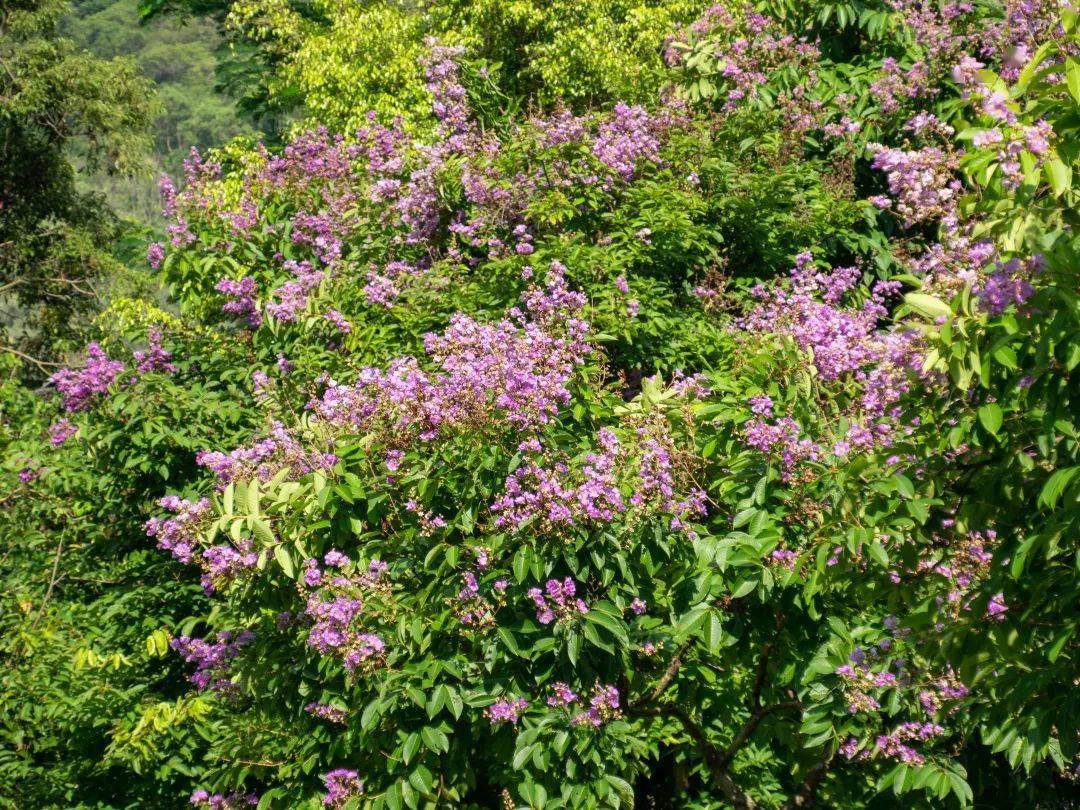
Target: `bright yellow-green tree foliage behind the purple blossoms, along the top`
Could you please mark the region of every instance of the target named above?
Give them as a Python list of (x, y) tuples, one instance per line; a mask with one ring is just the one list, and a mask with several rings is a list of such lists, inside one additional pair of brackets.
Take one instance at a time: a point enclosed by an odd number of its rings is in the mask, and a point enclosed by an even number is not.
[(661, 43), (698, 11), (688, 0), (243, 0), (143, 8), (222, 21), (227, 35), (254, 45), (267, 66), (262, 76), (248, 77), (261, 85), (251, 93), (265, 93), (279, 108), (303, 105), (312, 120), (338, 132), (362, 125), (370, 110), (388, 121), (402, 116), (409, 125), (426, 124), (430, 99), (415, 67), (430, 36), (468, 45), (502, 99), (576, 109), (648, 99), (663, 81)]

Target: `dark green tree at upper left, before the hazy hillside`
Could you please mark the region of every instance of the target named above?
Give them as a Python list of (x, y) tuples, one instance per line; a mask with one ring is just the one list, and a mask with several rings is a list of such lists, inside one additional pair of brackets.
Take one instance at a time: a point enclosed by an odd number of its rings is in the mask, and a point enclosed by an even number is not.
[(39, 378), (81, 342), (87, 315), (122, 276), (109, 248), (119, 224), (100, 194), (80, 192), (67, 150), (108, 173), (145, 160), (150, 86), (129, 59), (105, 62), (57, 36), (64, 4), (0, 10), (0, 295), (4, 351)]

